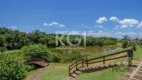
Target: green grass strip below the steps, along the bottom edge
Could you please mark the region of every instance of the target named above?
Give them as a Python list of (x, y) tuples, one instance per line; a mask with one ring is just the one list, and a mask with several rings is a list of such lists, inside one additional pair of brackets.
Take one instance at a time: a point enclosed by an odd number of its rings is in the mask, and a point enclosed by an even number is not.
[(106, 69), (98, 72), (82, 73), (76, 80), (121, 80), (125, 72), (112, 71)]

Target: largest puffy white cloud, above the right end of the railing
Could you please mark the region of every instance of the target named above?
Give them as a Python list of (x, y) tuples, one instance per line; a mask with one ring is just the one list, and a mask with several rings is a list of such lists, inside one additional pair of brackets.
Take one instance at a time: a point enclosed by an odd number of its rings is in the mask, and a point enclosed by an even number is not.
[(136, 19), (123, 19), (119, 21), (119, 24), (121, 25), (120, 28), (127, 28), (138, 25), (139, 21)]

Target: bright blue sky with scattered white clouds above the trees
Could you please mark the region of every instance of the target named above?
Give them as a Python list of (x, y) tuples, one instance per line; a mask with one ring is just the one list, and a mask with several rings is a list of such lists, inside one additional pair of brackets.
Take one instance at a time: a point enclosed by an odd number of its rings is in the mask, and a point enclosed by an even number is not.
[(0, 27), (142, 37), (142, 0), (0, 0)]

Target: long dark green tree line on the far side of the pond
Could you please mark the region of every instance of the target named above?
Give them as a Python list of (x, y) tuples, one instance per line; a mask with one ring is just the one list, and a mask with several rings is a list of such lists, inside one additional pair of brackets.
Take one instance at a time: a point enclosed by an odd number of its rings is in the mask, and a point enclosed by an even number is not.
[[(3, 35), (5, 39), (1, 39), (0, 37), (0, 45), (6, 44), (6, 48), (8, 50), (13, 49), (21, 49), (25, 45), (29, 44), (44, 44), (48, 47), (58, 47), (61, 46), (61, 43), (59, 42), (59, 45), (56, 46), (56, 34), (46, 34), (45, 32), (41, 32), (39, 30), (35, 30), (29, 33), (26, 32), (20, 32), (19, 30), (10, 30), (8, 28), (0, 28), (0, 35)], [(59, 36), (62, 36), (62, 34), (59, 34)], [(78, 43), (76, 38), (81, 39), (81, 44), (79, 46), (83, 46), (83, 36), (80, 35), (70, 35), (70, 42), (71, 43)], [(2, 40), (2, 41), (1, 41)], [(66, 46), (69, 46), (69, 43), (67, 43), (67, 35), (63, 37), (64, 44)], [(117, 40), (115, 38), (111, 37), (87, 37), (86, 39), (86, 46), (104, 46), (104, 45), (115, 45)]]

